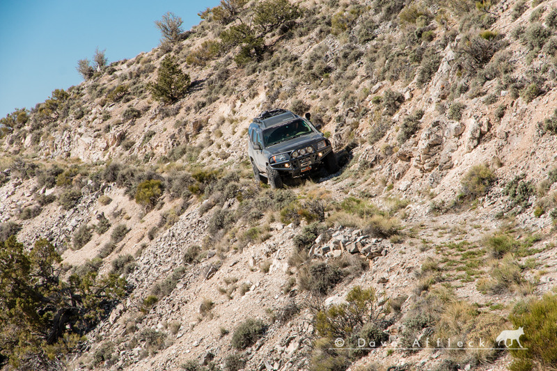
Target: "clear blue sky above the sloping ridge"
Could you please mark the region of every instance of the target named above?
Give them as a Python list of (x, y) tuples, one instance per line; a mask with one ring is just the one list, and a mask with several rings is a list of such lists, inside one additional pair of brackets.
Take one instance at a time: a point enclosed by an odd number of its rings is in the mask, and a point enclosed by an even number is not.
[(109, 63), (133, 58), (159, 45), (155, 20), (166, 12), (182, 17), (184, 30), (197, 13), (219, 0), (0, 0), (0, 118), (31, 109), (57, 88), (83, 79), (79, 59), (106, 49)]

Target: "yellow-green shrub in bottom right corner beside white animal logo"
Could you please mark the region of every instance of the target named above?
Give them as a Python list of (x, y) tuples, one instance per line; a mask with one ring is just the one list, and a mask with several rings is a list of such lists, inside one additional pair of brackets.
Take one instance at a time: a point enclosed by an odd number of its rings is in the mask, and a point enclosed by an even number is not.
[[(545, 294), (529, 303), (519, 302), (509, 316), (510, 322), (524, 329), (520, 336), (522, 347), (510, 350), (514, 362), (512, 371), (549, 370), (557, 368), (557, 297)], [(517, 344), (512, 344), (517, 347)]]

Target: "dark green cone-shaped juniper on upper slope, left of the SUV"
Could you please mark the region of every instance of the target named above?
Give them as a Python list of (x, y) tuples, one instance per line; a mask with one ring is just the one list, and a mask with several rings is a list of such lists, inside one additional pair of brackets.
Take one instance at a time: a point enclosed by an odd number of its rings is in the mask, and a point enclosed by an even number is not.
[(171, 104), (186, 95), (189, 85), (189, 75), (180, 70), (174, 57), (166, 56), (157, 70), (157, 82), (148, 86), (155, 100)]

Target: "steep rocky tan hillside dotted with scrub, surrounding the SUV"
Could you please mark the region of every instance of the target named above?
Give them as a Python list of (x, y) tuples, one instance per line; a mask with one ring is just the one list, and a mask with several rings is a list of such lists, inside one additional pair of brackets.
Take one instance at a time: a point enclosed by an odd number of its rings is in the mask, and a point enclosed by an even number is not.
[[(557, 1), (221, 3), (1, 120), (4, 369), (556, 368)], [(254, 182), (273, 107), (340, 171)]]

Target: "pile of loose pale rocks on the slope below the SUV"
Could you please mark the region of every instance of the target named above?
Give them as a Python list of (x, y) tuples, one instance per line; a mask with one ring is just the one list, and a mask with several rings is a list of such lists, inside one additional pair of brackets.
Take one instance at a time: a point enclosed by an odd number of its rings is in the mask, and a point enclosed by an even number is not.
[(311, 246), (311, 256), (324, 256), (325, 258), (339, 258), (343, 253), (360, 254), (370, 260), (377, 260), (385, 256), (392, 247), (391, 242), (381, 238), (371, 238), (363, 235), (361, 230), (338, 230), (327, 241), (327, 232), (315, 239)]

